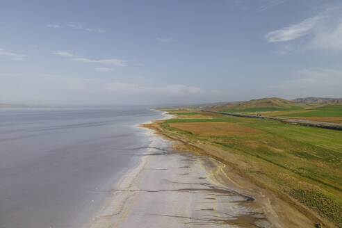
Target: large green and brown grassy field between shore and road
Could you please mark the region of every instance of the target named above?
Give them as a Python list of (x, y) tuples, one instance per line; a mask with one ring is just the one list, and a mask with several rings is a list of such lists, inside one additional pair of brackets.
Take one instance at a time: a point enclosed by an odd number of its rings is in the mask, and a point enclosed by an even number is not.
[(161, 127), (173, 137), (220, 148), (222, 152), (208, 154), (342, 227), (342, 131), (226, 115), (202, 117), (179, 115)]

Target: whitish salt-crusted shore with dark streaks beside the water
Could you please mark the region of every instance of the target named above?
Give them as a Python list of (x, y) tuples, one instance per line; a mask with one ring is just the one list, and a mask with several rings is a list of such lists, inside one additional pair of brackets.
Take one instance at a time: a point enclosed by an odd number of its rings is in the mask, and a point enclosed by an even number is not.
[[(227, 176), (225, 164), (171, 149), (173, 142), (146, 129), (151, 144), (140, 163), (115, 184), (84, 227), (311, 227), (284, 202), (247, 181)], [(247, 186), (247, 188), (246, 188)], [(279, 199), (280, 200), (280, 199)], [(277, 202), (278, 203), (278, 202)], [(289, 217), (288, 217), (289, 216)]]

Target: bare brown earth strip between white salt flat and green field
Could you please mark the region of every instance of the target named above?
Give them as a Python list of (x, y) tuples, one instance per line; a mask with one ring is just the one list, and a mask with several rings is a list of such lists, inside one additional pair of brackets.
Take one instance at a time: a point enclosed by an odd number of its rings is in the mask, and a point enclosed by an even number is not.
[[(159, 126), (160, 123), (161, 121), (156, 120), (152, 124), (147, 124), (145, 127), (154, 129), (154, 131), (156, 131), (156, 133), (158, 133), (160, 136), (176, 142), (174, 149), (178, 149), (179, 151), (183, 152), (190, 150), (194, 154), (208, 156), (227, 165), (227, 170), (224, 172), (227, 181), (233, 181), (234, 179), (234, 184), (240, 185), (242, 183), (245, 188), (257, 190), (257, 192), (260, 193), (259, 195), (255, 194), (256, 192), (253, 193), (253, 191), (247, 191), (256, 199), (261, 200), (263, 198), (268, 198), (267, 204), (269, 204), (268, 206), (272, 204), (274, 207), (275, 217), (277, 217), (279, 220), (283, 220), (284, 222), (282, 227), (336, 227), (336, 225), (334, 225), (332, 222), (318, 215), (316, 211), (312, 211), (307, 206), (304, 206), (298, 202), (296, 199), (293, 199), (285, 193), (282, 193), (282, 191), (279, 189), (272, 188), (272, 186), (266, 185), (263, 183), (263, 181), (259, 181), (253, 177), (250, 177), (249, 175), (245, 174), (243, 170), (235, 168), (235, 166), (230, 164), (228, 161), (208, 152), (211, 150), (220, 151), (219, 148), (213, 147), (212, 145), (206, 145), (201, 142), (187, 142), (186, 138), (179, 137), (177, 133), (175, 135), (164, 133), (163, 127)], [(265, 202), (263, 202), (263, 204), (264, 206), (266, 205)], [(293, 225), (295, 224), (293, 222), (298, 222), (300, 224), (301, 221), (304, 221), (303, 224), (305, 225)]]

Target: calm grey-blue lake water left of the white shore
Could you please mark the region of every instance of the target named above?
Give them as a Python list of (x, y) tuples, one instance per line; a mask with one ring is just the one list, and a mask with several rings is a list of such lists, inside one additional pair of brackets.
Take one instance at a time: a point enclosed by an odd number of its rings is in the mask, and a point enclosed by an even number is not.
[(149, 108), (0, 108), (0, 227), (79, 227), (149, 141)]

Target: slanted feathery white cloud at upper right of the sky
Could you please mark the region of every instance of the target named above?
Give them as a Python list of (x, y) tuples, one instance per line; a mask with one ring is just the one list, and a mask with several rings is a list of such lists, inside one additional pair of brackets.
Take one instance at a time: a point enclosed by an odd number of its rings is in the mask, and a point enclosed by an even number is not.
[(321, 17), (316, 16), (304, 19), (304, 21), (298, 24), (293, 24), (291, 26), (284, 27), (283, 29), (271, 31), (265, 35), (265, 38), (268, 42), (286, 42), (295, 40), (303, 35), (307, 35), (312, 29), (314, 29), (314, 26), (320, 18)]

